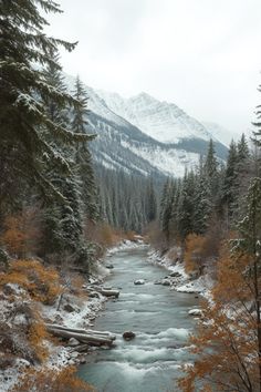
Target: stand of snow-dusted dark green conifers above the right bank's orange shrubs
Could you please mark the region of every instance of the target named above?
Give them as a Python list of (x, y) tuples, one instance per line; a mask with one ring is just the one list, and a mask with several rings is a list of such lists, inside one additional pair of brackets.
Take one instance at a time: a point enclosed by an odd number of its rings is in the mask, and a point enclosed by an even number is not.
[(215, 144), (210, 141), (207, 156), (200, 158), (197, 172), (186, 172), (179, 182), (168, 179), (163, 188), (159, 212), (167, 241), (184, 243), (189, 234), (206, 235), (217, 219), (229, 230), (239, 215), (239, 200), (249, 184), (250, 161), (244, 135), (238, 145), (231, 143), (226, 167), (218, 162)]

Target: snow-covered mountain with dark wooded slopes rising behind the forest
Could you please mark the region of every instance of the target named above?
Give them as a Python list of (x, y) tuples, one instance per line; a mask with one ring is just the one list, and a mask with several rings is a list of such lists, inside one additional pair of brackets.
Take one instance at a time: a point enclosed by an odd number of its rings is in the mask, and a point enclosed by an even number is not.
[[(74, 79), (66, 76), (72, 90)], [(146, 93), (123, 99), (85, 85), (87, 116), (94, 161), (111, 169), (129, 174), (182, 176), (206, 154), (213, 134), (178, 106), (160, 102)], [(227, 147), (216, 142), (217, 155), (223, 159)]]

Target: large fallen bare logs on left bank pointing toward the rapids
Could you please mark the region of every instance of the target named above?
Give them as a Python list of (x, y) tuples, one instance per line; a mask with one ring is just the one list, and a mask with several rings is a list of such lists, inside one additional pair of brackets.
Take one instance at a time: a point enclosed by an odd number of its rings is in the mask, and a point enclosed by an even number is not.
[(55, 324), (46, 324), (46, 330), (55, 337), (66, 339), (74, 338), (80, 342), (87, 343), (90, 345), (112, 345), (113, 341), (116, 339), (116, 337), (109, 332), (81, 330)]

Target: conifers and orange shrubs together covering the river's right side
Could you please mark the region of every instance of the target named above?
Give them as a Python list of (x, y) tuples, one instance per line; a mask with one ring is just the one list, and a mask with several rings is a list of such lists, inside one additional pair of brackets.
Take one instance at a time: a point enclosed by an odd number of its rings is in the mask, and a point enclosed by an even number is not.
[[(259, 115), (259, 112), (258, 112)], [(259, 391), (260, 358), (260, 123), (251, 143), (231, 142), (226, 165), (213, 143), (197, 171), (167, 179), (159, 223), (149, 236), (163, 254), (185, 264), (192, 279), (213, 282), (203, 322), (191, 338), (199, 355), (180, 379), (182, 391)], [(158, 231), (158, 235), (156, 234)], [(199, 389), (201, 391), (201, 389)]]

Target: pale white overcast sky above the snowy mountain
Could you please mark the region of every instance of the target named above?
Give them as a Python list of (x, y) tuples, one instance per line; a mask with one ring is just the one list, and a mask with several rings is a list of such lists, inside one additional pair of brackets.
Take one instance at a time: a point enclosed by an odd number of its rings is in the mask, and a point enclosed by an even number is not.
[(251, 128), (261, 103), (260, 0), (56, 0), (48, 32), (79, 41), (64, 71), (90, 86), (145, 91), (197, 120)]

